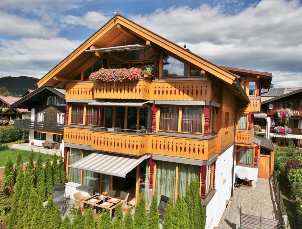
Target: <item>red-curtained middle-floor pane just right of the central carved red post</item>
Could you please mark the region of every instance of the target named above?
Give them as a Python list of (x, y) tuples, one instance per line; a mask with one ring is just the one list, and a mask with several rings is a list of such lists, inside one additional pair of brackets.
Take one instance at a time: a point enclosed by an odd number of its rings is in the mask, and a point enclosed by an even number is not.
[(178, 107), (160, 108), (159, 129), (178, 130)]

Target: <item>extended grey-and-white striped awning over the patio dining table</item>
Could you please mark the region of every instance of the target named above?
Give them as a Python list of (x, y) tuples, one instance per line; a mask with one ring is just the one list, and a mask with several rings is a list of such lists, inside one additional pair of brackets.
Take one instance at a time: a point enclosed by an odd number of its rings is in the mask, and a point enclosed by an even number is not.
[(124, 178), (128, 172), (149, 157), (150, 155), (135, 157), (108, 152), (94, 152), (72, 165), (68, 165), (68, 167)]

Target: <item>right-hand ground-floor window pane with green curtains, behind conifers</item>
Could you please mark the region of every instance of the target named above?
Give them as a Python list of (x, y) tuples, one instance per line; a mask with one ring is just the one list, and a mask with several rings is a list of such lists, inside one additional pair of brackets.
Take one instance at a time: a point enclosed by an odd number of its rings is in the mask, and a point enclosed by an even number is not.
[(196, 165), (178, 164), (178, 194), (184, 196), (192, 179), (199, 182), (200, 169)]

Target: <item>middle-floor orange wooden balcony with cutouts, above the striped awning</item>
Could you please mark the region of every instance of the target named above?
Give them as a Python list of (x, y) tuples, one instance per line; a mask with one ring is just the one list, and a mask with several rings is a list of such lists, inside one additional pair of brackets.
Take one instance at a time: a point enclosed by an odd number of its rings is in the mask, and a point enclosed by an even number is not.
[(217, 137), (207, 140), (64, 127), (64, 142), (92, 146), (94, 150), (136, 156), (149, 153), (208, 160), (217, 153)]

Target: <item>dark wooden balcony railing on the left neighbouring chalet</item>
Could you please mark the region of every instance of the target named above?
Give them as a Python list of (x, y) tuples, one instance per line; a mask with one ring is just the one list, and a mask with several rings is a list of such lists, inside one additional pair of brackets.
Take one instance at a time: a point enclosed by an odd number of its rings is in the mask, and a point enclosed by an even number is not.
[(15, 127), (63, 133), (64, 123), (39, 122), (28, 119), (15, 119)]

